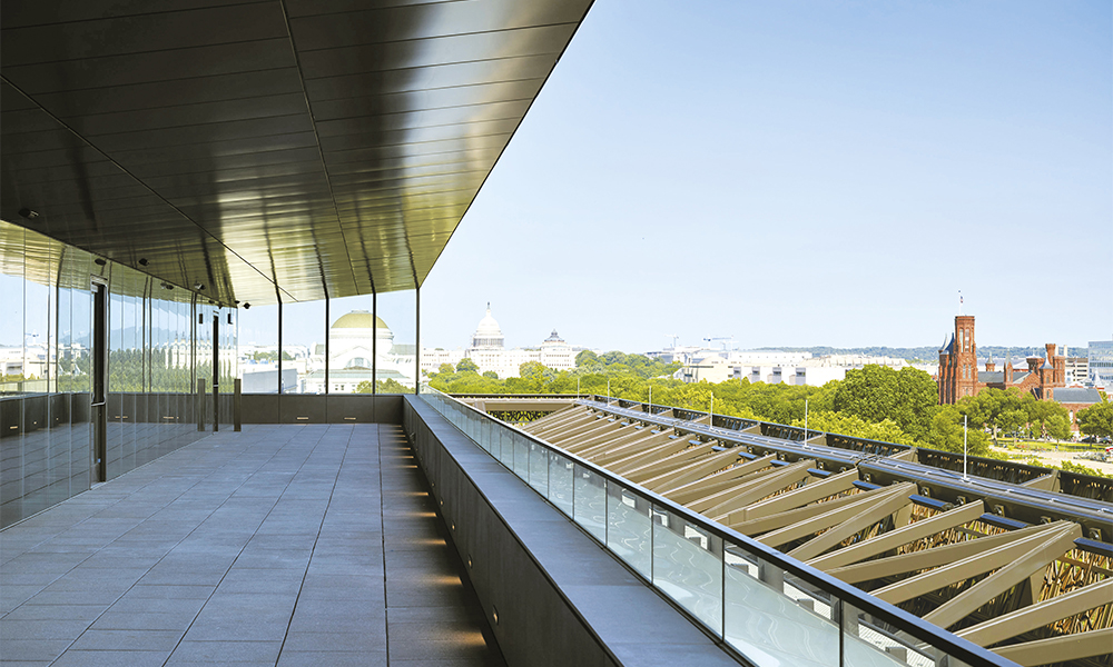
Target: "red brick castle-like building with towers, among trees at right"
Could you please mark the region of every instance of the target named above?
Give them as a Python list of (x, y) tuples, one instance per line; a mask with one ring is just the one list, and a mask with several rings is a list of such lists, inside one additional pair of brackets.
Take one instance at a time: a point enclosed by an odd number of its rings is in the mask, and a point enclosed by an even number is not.
[(974, 342), (974, 316), (955, 316), (955, 331), (949, 342), (939, 349), (939, 405), (956, 404), (967, 396), (977, 396), (982, 389), (1016, 389), (1040, 400), (1060, 402), (1071, 417), (1071, 429), (1078, 430), (1075, 415), (1078, 410), (1101, 402), (1101, 394), (1092, 387), (1067, 387), (1066, 356), (1058, 354), (1058, 346), (1048, 342), (1045, 356), (1025, 359), (1025, 365), (1014, 367), (1006, 358), (1001, 370), (993, 359), (986, 359), (984, 370), (978, 370), (977, 345)]

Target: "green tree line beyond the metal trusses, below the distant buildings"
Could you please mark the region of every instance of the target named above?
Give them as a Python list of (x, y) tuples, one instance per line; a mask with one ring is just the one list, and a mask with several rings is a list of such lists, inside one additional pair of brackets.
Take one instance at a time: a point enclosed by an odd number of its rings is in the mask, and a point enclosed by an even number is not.
[[(575, 361), (571, 370), (529, 361), (521, 366), (521, 377), (499, 379), (492, 372), (480, 375), (471, 359), (463, 359), (455, 368), (442, 365), (431, 374), (430, 385), (446, 394), (609, 394), (955, 452), (963, 451), (965, 438), (966, 449), (974, 456), (989, 456), (991, 444), (1006, 435), (1071, 437), (1070, 415), (1057, 402), (1036, 400), (1015, 389), (985, 389), (957, 405), (940, 406), (932, 376), (910, 367), (896, 370), (868, 365), (848, 370), (843, 380), (808, 387), (750, 382), (747, 378), (686, 384), (672, 378), (679, 365), (644, 355), (583, 351)], [(1083, 432), (1113, 432), (1111, 411), (1109, 402), (1080, 411)]]

